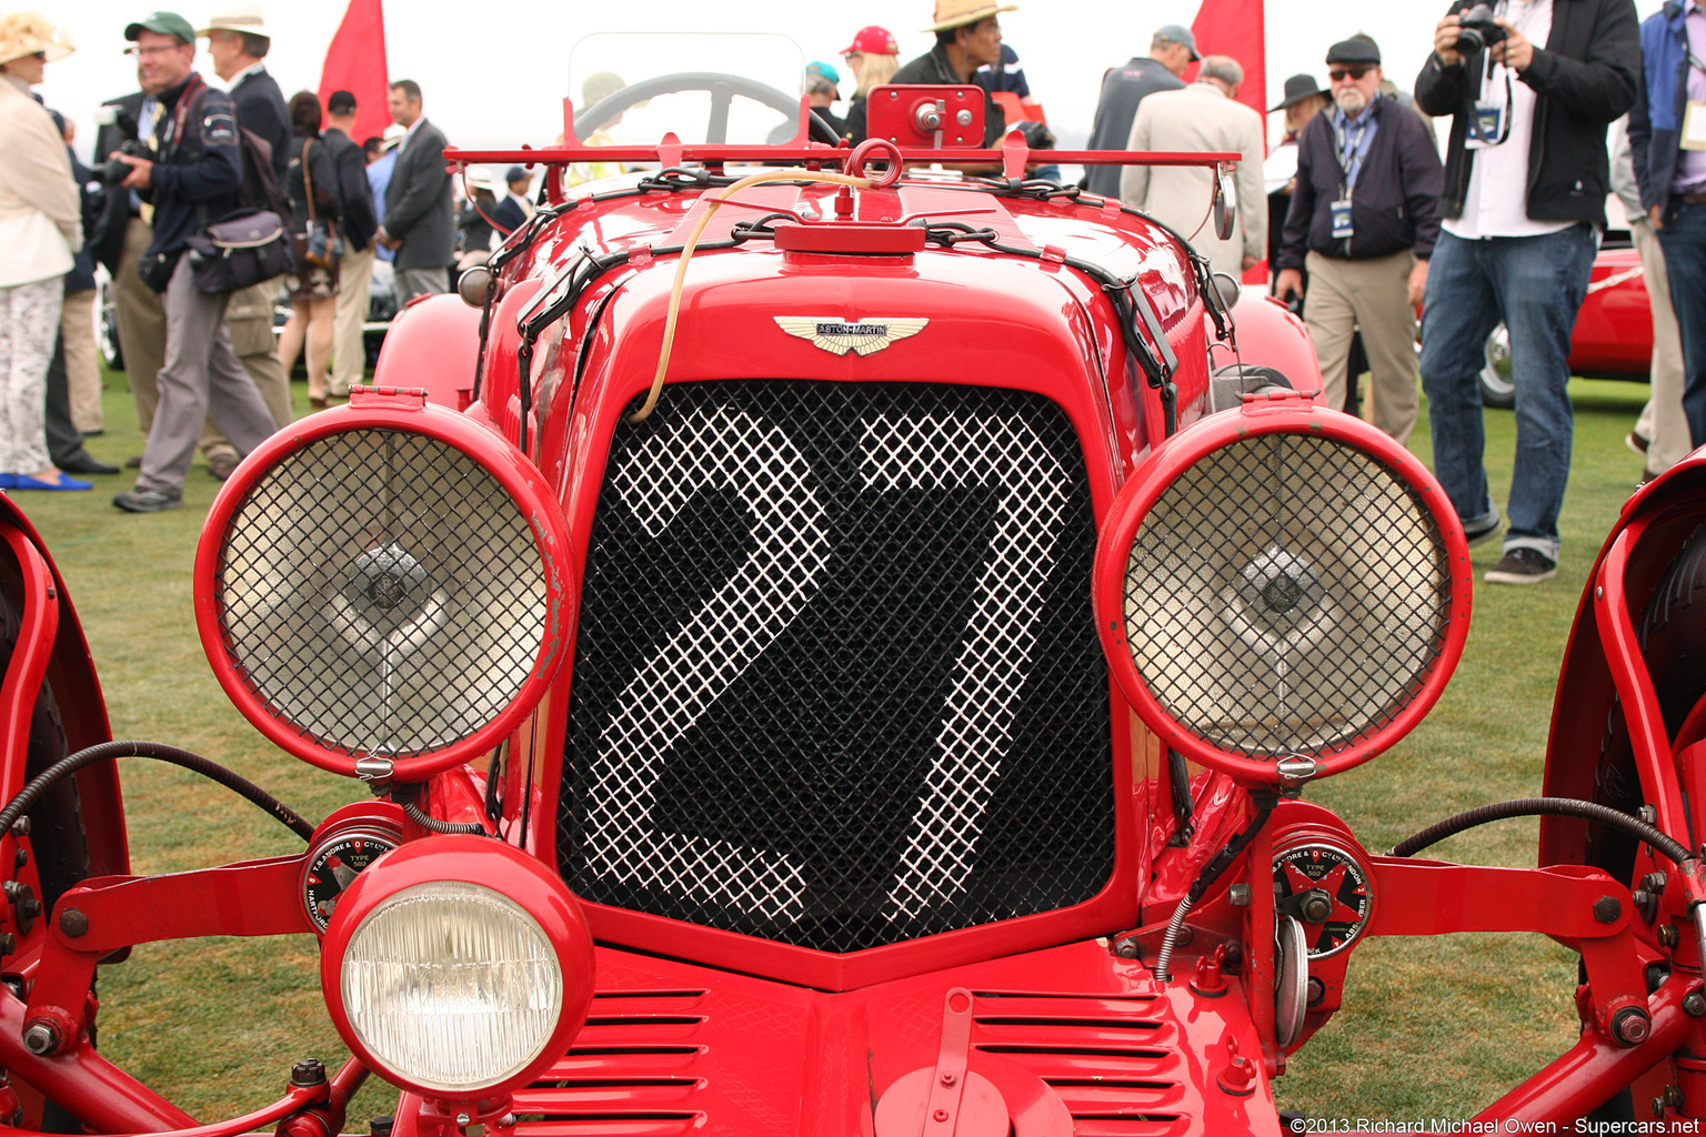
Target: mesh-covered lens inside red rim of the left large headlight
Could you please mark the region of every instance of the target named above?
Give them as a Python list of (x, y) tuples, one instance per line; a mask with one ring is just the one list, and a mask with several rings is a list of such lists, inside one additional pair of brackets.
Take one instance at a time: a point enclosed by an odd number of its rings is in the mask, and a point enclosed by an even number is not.
[(237, 506), (217, 578), (225, 653), (268, 714), (345, 755), (415, 757), (491, 723), (546, 629), (527, 518), (442, 442), (309, 443)]

